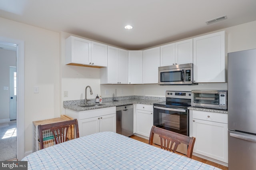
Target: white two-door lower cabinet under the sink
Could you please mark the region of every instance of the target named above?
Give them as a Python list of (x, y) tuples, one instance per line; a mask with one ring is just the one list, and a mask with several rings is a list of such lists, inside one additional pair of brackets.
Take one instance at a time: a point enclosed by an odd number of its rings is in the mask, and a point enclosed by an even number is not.
[(78, 119), (80, 137), (97, 132), (116, 132), (116, 107), (80, 112), (66, 109), (66, 115)]

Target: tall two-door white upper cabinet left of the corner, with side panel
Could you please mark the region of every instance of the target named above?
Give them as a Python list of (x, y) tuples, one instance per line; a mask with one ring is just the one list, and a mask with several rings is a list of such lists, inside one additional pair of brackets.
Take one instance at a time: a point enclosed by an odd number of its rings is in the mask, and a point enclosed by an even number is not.
[(101, 84), (128, 83), (128, 51), (108, 46), (108, 67), (100, 69)]

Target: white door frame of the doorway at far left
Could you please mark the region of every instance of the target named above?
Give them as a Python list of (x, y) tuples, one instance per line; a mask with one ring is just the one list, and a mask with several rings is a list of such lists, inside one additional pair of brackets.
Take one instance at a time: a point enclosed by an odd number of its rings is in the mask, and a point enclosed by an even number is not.
[(25, 155), (25, 49), (24, 41), (0, 36), (0, 43), (17, 46), (17, 159)]

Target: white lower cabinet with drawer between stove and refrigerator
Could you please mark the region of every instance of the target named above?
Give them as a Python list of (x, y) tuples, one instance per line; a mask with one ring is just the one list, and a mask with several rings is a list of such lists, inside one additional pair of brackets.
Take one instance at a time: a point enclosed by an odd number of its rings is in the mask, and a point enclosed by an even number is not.
[(196, 138), (193, 152), (228, 163), (228, 115), (190, 110), (190, 117), (190, 136)]

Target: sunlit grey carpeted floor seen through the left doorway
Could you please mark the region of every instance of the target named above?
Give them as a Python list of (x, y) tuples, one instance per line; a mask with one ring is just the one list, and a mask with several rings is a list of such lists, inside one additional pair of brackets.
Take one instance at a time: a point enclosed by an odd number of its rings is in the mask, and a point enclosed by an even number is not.
[(16, 121), (0, 124), (0, 161), (17, 158)]

